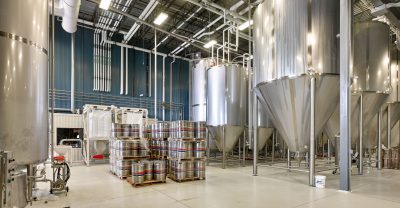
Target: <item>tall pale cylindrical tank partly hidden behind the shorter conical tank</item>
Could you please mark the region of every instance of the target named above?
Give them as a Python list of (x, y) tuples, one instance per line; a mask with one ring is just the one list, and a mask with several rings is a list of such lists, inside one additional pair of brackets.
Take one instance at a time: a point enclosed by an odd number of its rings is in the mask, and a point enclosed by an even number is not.
[(212, 59), (202, 59), (192, 70), (192, 121), (206, 121), (207, 69), (212, 65)]

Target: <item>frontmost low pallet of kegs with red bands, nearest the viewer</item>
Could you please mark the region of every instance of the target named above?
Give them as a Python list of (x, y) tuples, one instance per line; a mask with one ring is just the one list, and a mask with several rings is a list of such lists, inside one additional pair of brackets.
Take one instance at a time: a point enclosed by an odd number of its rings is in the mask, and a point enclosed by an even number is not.
[(141, 185), (154, 182), (166, 181), (166, 165), (163, 160), (142, 160), (132, 163), (132, 178), (130, 179), (133, 185)]

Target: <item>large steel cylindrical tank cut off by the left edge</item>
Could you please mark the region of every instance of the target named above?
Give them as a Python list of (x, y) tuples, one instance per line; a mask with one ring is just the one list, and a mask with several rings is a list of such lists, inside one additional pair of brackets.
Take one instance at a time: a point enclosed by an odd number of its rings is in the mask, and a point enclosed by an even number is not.
[(48, 158), (48, 1), (0, 6), (0, 149), (16, 164)]

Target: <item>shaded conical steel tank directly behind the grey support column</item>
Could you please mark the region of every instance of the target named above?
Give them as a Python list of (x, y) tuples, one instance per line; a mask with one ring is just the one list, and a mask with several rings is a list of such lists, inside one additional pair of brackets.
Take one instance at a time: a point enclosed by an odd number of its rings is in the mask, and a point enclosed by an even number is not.
[[(390, 89), (389, 27), (381, 22), (356, 23), (353, 40), (352, 145), (354, 147), (359, 143), (361, 121), (363, 147), (372, 148), (377, 144), (377, 113), (388, 101)], [(335, 135), (339, 135), (339, 130), (339, 107), (337, 106), (334, 115), (326, 125), (325, 132), (330, 138), (334, 138)]]

